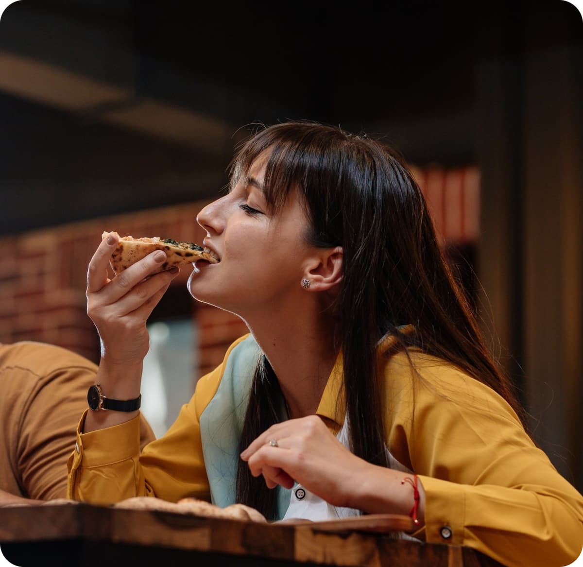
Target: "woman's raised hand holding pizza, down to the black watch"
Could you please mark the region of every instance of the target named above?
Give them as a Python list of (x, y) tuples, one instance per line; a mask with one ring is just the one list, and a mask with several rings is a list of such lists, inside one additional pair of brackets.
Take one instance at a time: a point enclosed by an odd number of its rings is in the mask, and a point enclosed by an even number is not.
[(101, 341), (98, 375), (104, 396), (131, 399), (139, 395), (142, 361), (149, 348), (146, 320), (178, 269), (148, 277), (166, 261), (157, 250), (109, 279), (107, 267), (118, 238), (103, 239), (87, 271), (87, 314)]

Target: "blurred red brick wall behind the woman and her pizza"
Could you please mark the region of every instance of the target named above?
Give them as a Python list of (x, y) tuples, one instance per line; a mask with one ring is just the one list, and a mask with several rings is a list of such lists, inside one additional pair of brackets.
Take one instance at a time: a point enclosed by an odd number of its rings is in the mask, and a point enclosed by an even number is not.
[[(478, 234), (479, 176), (475, 168), (413, 168), (444, 243), (473, 242)], [(104, 230), (202, 243), (196, 213), (205, 202), (72, 223), (0, 238), (0, 342), (43, 341), (99, 360), (99, 338), (86, 314), (87, 264)], [(182, 269), (173, 286), (184, 286)], [(199, 372), (217, 366), (229, 344), (247, 332), (226, 311), (194, 302)], [(192, 308), (185, 306), (185, 313)]]

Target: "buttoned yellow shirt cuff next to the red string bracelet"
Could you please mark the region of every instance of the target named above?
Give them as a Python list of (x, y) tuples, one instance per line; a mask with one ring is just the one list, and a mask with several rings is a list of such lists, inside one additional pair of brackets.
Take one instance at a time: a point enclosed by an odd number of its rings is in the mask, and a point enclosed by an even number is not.
[(418, 475), (425, 491), (425, 541), (463, 545), (465, 490), (463, 485)]

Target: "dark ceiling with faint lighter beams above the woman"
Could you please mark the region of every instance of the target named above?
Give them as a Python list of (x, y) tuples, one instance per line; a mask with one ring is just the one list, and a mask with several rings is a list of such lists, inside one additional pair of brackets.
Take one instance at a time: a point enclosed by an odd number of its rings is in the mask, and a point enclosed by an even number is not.
[(476, 163), (480, 65), (583, 44), (559, 0), (273, 6), (10, 5), (0, 233), (213, 197), (256, 121), (340, 124), (413, 163)]

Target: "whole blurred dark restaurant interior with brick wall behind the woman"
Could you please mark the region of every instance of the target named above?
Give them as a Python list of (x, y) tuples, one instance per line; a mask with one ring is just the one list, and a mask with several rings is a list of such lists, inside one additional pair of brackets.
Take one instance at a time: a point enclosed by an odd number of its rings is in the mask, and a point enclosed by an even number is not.
[[(583, 489), (583, 22), (563, 0), (20, 0), (0, 20), (0, 341), (99, 359), (86, 267), (103, 230), (202, 241), (237, 143), (317, 120), (410, 163), (531, 415)], [(188, 270), (150, 318), (162, 435), (246, 332)]]

